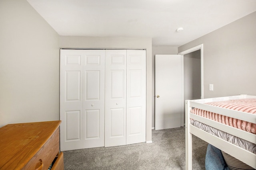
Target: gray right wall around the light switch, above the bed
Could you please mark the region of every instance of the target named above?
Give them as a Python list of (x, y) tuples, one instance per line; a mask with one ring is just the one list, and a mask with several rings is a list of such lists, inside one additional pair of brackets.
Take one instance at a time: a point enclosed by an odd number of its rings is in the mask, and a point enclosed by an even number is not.
[(204, 98), (256, 95), (255, 28), (256, 12), (178, 47), (181, 52), (204, 44)]

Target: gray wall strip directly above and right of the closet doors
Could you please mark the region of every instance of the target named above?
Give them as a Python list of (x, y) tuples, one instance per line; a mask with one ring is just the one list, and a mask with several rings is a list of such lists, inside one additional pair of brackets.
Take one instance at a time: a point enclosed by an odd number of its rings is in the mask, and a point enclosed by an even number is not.
[(146, 49), (146, 141), (152, 141), (152, 39), (60, 36), (60, 47)]

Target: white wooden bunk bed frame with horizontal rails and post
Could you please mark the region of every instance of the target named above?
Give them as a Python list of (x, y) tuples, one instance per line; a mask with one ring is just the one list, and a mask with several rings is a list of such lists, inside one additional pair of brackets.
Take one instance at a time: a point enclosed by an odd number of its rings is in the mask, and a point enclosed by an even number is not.
[[(229, 154), (230, 156), (248, 164), (252, 168), (256, 169), (256, 106), (255, 112), (247, 113), (244, 110), (239, 111), (239, 109), (223, 108), (218, 106), (213, 106), (212, 102), (227, 102), (227, 101), (238, 101), (244, 99), (252, 99), (256, 101), (256, 96), (249, 95), (238, 95), (238, 96), (228, 96), (221, 98), (209, 98), (209, 99), (199, 99), (199, 100), (186, 100), (186, 170), (192, 170), (192, 135), (199, 137), (200, 139), (206, 141), (207, 143), (213, 145), (214, 147), (222, 150), (222, 152)], [(200, 109), (200, 111), (194, 111), (194, 109)], [(199, 114), (198, 114), (199, 113)], [(207, 114), (206, 114), (207, 113)], [(218, 113), (212, 116), (210, 119), (208, 113)], [(216, 120), (214, 120), (214, 117)], [(223, 118), (223, 120), (221, 120)], [(240, 127), (232, 127), (225, 124), (228, 120), (239, 120), (242, 122), (247, 122), (250, 128), (246, 129)], [(192, 122), (199, 124), (198, 127), (192, 125)], [(228, 123), (227, 123), (228, 124)], [(240, 123), (241, 124), (241, 123)], [(246, 141), (252, 145), (248, 147), (238, 146), (237, 144), (230, 143), (226, 139), (222, 139), (212, 133), (205, 131), (206, 129), (201, 129), (203, 126), (213, 127), (222, 131), (223, 133), (230, 134), (238, 139)], [(253, 127), (253, 128), (252, 128)], [(240, 128), (240, 129), (239, 129)], [(251, 132), (251, 129), (252, 130)], [(246, 144), (247, 146), (247, 144)]]

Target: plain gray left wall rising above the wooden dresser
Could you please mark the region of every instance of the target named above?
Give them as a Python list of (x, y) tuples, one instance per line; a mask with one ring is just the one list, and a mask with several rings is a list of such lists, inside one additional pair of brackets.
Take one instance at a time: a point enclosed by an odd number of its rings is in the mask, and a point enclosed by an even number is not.
[(1, 0), (0, 25), (0, 127), (59, 120), (59, 35), (26, 0)]

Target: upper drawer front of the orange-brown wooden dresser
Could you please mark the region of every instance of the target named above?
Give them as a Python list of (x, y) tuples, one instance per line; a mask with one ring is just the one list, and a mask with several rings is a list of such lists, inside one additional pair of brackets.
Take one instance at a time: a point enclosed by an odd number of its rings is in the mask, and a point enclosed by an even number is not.
[(24, 166), (24, 170), (48, 170), (50, 164), (59, 152), (60, 139), (59, 128), (56, 129), (50, 139), (41, 147), (41, 149)]

